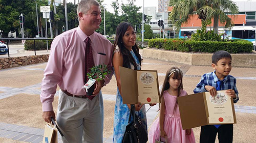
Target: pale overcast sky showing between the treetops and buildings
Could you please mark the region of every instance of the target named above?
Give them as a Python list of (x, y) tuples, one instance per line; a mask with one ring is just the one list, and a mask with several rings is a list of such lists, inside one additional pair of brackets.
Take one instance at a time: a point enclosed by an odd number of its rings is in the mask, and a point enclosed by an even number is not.
[[(113, 8), (111, 7), (111, 3), (114, 2), (115, 0), (104, 0), (104, 2), (102, 3), (103, 5), (105, 5), (106, 10), (114, 13)], [(74, 0), (67, 0), (67, 3), (74, 3)], [(122, 2), (124, 4), (127, 4), (127, 0), (118, 0), (119, 4), (122, 4)], [(76, 0), (76, 3), (78, 3), (78, 0)], [(136, 0), (135, 2), (136, 6), (143, 6), (143, 0)], [(144, 7), (156, 7), (157, 11), (158, 11), (158, 0), (144, 0)], [(140, 12), (142, 12), (142, 8), (140, 10)]]

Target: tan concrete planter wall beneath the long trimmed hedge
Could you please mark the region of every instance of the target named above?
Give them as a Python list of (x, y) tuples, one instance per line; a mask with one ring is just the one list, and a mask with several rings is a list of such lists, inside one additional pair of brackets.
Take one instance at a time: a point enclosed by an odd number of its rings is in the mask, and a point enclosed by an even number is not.
[[(256, 68), (256, 54), (231, 54), (232, 66)], [(143, 49), (144, 58), (152, 58), (188, 65), (211, 65), (212, 54), (183, 53), (150, 48)]]

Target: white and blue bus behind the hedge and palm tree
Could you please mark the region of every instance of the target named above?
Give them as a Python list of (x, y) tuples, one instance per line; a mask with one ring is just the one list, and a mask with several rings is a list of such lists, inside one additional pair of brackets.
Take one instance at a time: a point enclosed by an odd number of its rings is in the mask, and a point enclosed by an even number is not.
[[(213, 30), (213, 28), (207, 28)], [(197, 31), (197, 28), (180, 29), (179, 38), (187, 38)], [(219, 33), (225, 33), (224, 38), (228, 39), (244, 39), (248, 41), (255, 41), (255, 28), (252, 26), (233, 26), (231, 30), (224, 30), (219, 28)]]

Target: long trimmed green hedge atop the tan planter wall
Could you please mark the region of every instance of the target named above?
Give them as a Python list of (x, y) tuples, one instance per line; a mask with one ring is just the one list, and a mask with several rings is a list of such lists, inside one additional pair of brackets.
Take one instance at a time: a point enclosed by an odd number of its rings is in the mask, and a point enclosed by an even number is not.
[(194, 41), (179, 39), (151, 39), (148, 47), (164, 48), (186, 52), (216, 52), (226, 50), (229, 53), (251, 52), (252, 43), (247, 40), (219, 41)]

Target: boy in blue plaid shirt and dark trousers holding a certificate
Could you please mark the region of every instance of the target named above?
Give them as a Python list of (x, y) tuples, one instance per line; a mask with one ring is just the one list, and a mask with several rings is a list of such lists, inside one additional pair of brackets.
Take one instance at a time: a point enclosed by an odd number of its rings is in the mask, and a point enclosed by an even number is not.
[[(206, 73), (202, 76), (194, 93), (209, 92), (211, 96), (216, 96), (217, 91), (227, 90), (226, 94), (233, 98), (234, 103), (239, 100), (236, 87), (237, 79), (229, 75), (231, 66), (231, 55), (227, 51), (217, 51), (212, 55), (211, 67), (214, 72)], [(233, 141), (233, 124), (226, 125), (206, 125), (201, 127), (200, 143), (214, 143), (216, 135), (220, 143)]]

